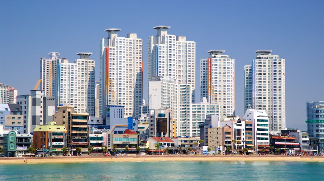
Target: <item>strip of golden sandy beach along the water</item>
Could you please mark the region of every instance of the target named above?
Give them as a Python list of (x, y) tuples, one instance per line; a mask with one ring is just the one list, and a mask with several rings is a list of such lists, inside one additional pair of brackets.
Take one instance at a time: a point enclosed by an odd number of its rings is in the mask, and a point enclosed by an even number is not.
[[(86, 162), (157, 162), (157, 161), (295, 161), (295, 162), (324, 162), (323, 156), (275, 156), (275, 155), (185, 155), (185, 156), (69, 156), (69, 157), (23, 157), (0, 158), (0, 164), (28, 163), (86, 163)], [(111, 159), (112, 158), (112, 159)]]

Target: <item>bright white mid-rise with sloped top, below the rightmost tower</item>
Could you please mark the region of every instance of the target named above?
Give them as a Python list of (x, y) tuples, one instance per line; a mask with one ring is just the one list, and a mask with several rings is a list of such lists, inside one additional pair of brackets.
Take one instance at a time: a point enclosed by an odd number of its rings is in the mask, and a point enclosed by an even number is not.
[(269, 147), (269, 118), (264, 110), (248, 109), (243, 119), (252, 121), (252, 144), (257, 149)]

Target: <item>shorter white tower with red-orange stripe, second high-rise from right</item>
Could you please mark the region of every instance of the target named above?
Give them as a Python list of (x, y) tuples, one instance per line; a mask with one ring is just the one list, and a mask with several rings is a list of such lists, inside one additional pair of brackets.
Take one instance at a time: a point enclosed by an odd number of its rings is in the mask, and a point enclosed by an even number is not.
[(225, 50), (210, 50), (208, 59), (200, 60), (200, 99), (220, 104), (220, 120), (235, 114), (235, 59)]

